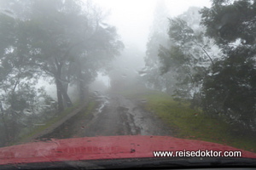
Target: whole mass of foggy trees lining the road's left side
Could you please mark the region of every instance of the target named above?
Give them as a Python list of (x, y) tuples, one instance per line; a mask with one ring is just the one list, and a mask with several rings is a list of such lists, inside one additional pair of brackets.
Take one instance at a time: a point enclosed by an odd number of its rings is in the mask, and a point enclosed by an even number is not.
[[(97, 71), (119, 54), (123, 43), (106, 14), (82, 0), (1, 0), (0, 145), (17, 139), (54, 111), (73, 105), (76, 85), (83, 101)], [(45, 78), (56, 87), (57, 102), (38, 89)]]

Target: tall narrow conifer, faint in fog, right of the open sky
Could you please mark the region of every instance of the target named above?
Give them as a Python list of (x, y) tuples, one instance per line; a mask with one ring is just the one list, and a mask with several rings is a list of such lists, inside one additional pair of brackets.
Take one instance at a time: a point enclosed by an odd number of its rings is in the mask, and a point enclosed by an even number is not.
[(165, 77), (160, 77), (159, 48), (168, 44), (168, 10), (164, 0), (157, 1), (154, 10), (154, 20), (149, 32), (145, 68), (142, 75), (150, 88), (163, 90), (166, 88)]

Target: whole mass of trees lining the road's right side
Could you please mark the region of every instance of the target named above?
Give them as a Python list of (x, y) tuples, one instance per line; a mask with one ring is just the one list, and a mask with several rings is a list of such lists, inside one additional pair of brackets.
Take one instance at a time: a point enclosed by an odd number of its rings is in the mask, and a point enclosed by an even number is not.
[(157, 45), (148, 51), (157, 53), (145, 60), (159, 63), (159, 72), (146, 65), (146, 82), (153, 88), (161, 83), (158, 89), (177, 99), (256, 131), (256, 1), (212, 0), (211, 8), (189, 8), (168, 20), (168, 44), (160, 35), (149, 38)]

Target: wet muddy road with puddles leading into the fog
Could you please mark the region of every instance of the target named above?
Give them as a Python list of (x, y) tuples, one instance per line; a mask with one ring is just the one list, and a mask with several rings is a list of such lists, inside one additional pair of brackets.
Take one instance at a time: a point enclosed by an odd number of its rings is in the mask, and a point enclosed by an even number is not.
[(145, 100), (119, 94), (98, 95), (99, 105), (90, 116), (73, 118), (44, 139), (67, 139), (116, 135), (172, 136), (172, 129), (154, 113), (144, 111)]

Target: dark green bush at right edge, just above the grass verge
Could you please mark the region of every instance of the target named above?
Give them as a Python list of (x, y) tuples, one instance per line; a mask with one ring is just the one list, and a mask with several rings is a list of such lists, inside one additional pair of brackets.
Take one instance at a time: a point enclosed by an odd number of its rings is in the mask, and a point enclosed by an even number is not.
[(233, 117), (232, 121), (250, 128), (255, 117), (256, 70), (254, 61), (241, 57), (236, 50), (230, 51), (229, 58), (219, 61), (212, 68), (212, 75), (206, 78), (204, 107), (210, 113), (226, 114)]

